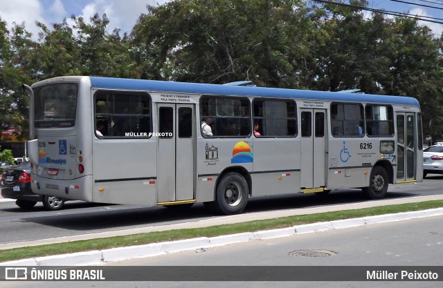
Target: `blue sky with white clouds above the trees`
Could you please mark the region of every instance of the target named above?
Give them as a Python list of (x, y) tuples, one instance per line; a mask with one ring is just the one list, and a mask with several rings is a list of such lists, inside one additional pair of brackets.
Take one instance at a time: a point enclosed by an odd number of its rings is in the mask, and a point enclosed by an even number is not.
[[(35, 21), (50, 26), (60, 23), (71, 15), (89, 19), (96, 12), (106, 13), (109, 28), (119, 28), (122, 32), (130, 32), (141, 13), (147, 12), (147, 4), (165, 3), (169, 0), (0, 0), (0, 17), (9, 26), (12, 22), (26, 23), (26, 29), (37, 37), (39, 29)], [(413, 15), (443, 18), (443, 0), (404, 0), (411, 3), (400, 3), (392, 0), (369, 0), (369, 7), (395, 12), (408, 12)], [(420, 5), (435, 6), (426, 8)], [(441, 20), (443, 22), (443, 20)], [(435, 36), (443, 32), (443, 24), (423, 23), (433, 29)]]

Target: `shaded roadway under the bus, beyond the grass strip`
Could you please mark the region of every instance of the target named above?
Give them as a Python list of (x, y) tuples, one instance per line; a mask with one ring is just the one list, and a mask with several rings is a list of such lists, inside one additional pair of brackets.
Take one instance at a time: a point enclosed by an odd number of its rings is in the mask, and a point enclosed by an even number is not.
[(433, 197), (442, 199), (442, 180), (443, 177), (435, 176), (422, 183), (391, 185), (386, 200), (381, 201), (366, 200), (358, 190), (333, 191), (326, 197), (293, 195), (251, 199), (245, 213), (234, 216), (213, 215), (201, 204), (195, 204), (195, 207), (188, 211), (175, 211), (163, 207), (67, 202), (66, 209), (62, 211), (44, 211), (41, 204), (37, 204), (39, 206), (32, 211), (24, 212), (18, 209), (14, 202), (0, 202), (0, 249), (172, 228), (204, 227), (257, 218), (358, 209), (419, 201), (417, 197), (421, 196), (435, 195)]

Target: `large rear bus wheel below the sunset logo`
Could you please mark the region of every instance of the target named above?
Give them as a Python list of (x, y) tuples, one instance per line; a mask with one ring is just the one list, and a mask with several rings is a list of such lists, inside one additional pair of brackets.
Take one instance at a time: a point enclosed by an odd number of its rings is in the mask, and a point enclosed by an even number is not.
[(230, 172), (221, 178), (215, 191), (215, 210), (225, 215), (242, 213), (248, 204), (248, 183), (239, 173)]

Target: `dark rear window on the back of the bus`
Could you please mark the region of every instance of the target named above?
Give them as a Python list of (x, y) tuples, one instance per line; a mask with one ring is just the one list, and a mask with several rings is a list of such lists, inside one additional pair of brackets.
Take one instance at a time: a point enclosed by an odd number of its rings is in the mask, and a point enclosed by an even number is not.
[(38, 87), (35, 93), (35, 128), (66, 128), (75, 125), (77, 84)]

